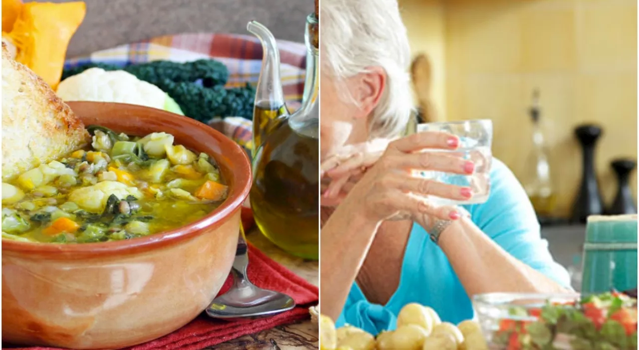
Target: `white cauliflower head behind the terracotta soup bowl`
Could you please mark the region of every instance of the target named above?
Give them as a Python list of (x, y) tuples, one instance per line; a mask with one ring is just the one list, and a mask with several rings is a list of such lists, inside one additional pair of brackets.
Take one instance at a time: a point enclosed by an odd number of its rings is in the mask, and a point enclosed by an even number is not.
[(157, 86), (123, 70), (89, 68), (58, 85), (65, 101), (121, 102), (164, 109), (168, 95)]

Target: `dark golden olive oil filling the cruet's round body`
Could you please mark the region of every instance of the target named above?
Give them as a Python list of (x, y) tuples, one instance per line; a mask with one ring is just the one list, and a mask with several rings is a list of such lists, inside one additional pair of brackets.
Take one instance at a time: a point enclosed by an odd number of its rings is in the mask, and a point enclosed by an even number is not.
[(265, 236), (290, 254), (319, 255), (318, 119), (297, 130), (289, 120), (268, 135), (253, 164), (250, 205)]

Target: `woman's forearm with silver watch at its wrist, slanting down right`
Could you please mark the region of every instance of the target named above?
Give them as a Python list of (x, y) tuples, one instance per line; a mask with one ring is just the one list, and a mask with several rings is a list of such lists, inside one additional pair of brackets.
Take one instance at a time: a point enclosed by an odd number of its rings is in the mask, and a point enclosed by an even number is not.
[(566, 289), (508, 254), (470, 220), (451, 224), (440, 236), (459, 282), (469, 296), (481, 293), (562, 293)]

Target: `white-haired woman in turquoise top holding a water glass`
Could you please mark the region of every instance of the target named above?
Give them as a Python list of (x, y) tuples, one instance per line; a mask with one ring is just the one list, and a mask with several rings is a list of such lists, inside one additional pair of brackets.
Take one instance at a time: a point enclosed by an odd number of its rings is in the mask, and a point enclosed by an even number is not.
[(566, 270), (503, 163), (493, 161), (488, 201), (463, 207), (435, 206), (427, 195), (462, 200), (469, 188), (411, 176), (410, 169), (471, 174), (473, 164), (427, 151), (457, 148), (454, 135), (399, 138), (412, 101), (396, 0), (321, 6), (321, 159), (330, 184), (322, 198), (321, 312), (377, 333), (394, 329), (407, 303), (458, 323), (473, 317), (475, 294), (569, 291)]

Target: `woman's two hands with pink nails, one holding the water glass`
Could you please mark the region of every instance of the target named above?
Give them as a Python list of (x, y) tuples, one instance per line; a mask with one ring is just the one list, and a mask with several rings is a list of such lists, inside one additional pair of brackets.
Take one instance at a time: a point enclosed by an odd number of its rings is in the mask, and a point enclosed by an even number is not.
[[(335, 176), (336, 173), (343, 174), (342, 179), (348, 175), (350, 179), (353, 178), (353, 173), (358, 167), (360, 172), (367, 169), (360, 174), (361, 178), (350, 188), (350, 193), (343, 200), (344, 206), (348, 205), (352, 210), (359, 211), (367, 220), (381, 222), (412, 218), (420, 224), (431, 222), (429, 218), (455, 220), (459, 218), (456, 208), (434, 206), (427, 197), (433, 195), (454, 201), (466, 200), (472, 197), (470, 188), (416, 177), (412, 175), (412, 172), (441, 171), (472, 174), (474, 164), (461, 157), (442, 152), (420, 152), (425, 149), (454, 150), (458, 148), (458, 145), (458, 137), (448, 133), (415, 133), (390, 142), (369, 169), (364, 162), (371, 162), (374, 154), (359, 156), (360, 163), (354, 160), (348, 164), (345, 162), (325, 173), (329, 177)], [(327, 198), (335, 195), (334, 190), (330, 192), (332, 185), (329, 185), (328, 191), (325, 192)], [(324, 199), (322, 199), (322, 205), (324, 205)]]

